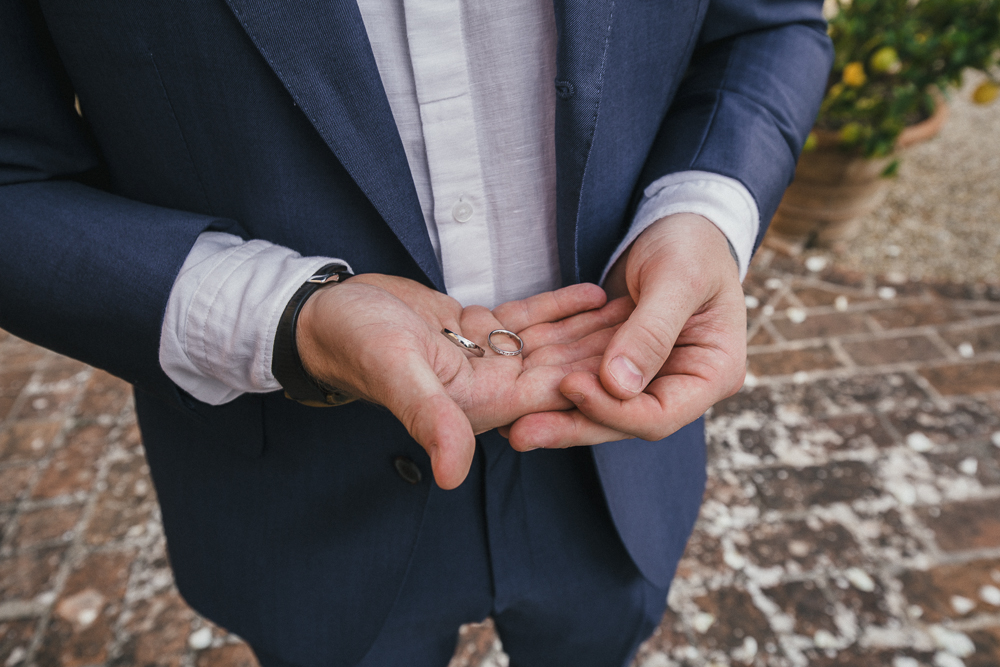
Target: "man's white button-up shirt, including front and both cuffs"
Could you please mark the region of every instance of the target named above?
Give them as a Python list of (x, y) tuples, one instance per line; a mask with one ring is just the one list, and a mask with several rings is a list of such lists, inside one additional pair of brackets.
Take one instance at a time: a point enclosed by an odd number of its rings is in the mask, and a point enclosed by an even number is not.
[[(559, 287), (552, 3), (358, 5), (448, 294), (492, 308)], [(646, 188), (608, 268), (646, 227), (681, 212), (722, 230), (744, 277), (759, 225), (756, 203), (738, 181), (696, 171)], [(167, 303), (164, 371), (214, 405), (279, 389), (271, 374), (278, 319), (295, 290), (331, 261), (202, 234)]]

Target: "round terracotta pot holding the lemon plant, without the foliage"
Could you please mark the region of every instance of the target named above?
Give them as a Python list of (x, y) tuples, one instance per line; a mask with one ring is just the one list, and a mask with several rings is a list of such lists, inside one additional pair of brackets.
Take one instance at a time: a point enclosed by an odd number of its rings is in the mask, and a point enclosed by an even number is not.
[[(930, 139), (947, 117), (948, 106), (939, 98), (934, 115), (903, 130), (896, 151)], [(772, 247), (835, 247), (853, 238), (861, 218), (885, 198), (890, 181), (882, 173), (896, 155), (863, 158), (841, 150), (836, 132), (814, 131), (816, 148), (802, 153), (768, 230)]]

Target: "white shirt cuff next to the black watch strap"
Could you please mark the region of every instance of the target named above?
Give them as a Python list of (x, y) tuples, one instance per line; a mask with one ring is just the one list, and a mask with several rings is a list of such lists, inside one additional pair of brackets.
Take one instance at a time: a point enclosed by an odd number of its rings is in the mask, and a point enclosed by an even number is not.
[(271, 374), (278, 320), (325, 257), (204, 232), (174, 281), (160, 330), (160, 367), (199, 401), (222, 405), (281, 388)]

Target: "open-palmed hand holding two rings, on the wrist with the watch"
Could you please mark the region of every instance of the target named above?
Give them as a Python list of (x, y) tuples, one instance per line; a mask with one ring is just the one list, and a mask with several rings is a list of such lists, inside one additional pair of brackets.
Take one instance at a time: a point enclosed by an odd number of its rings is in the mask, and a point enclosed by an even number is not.
[[(296, 339), (308, 373), (388, 408), (430, 455), (438, 485), (451, 489), (468, 474), (476, 433), (573, 407), (560, 381), (574, 371), (596, 372), (628, 316), (627, 300), (605, 301), (600, 287), (573, 285), (491, 312), (462, 308), (412, 280), (360, 274), (306, 301)], [(444, 328), (486, 355), (469, 357), (441, 334)], [(517, 333), (522, 354), (490, 351), (494, 329)]]

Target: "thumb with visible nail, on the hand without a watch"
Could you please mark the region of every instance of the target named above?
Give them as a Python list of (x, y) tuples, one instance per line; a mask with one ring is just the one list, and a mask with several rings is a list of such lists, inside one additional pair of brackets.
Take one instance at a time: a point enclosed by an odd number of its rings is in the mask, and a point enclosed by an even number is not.
[(639, 295), (601, 359), (601, 384), (609, 394), (632, 398), (656, 377), (691, 316), (686, 301), (669, 290), (647, 289)]

